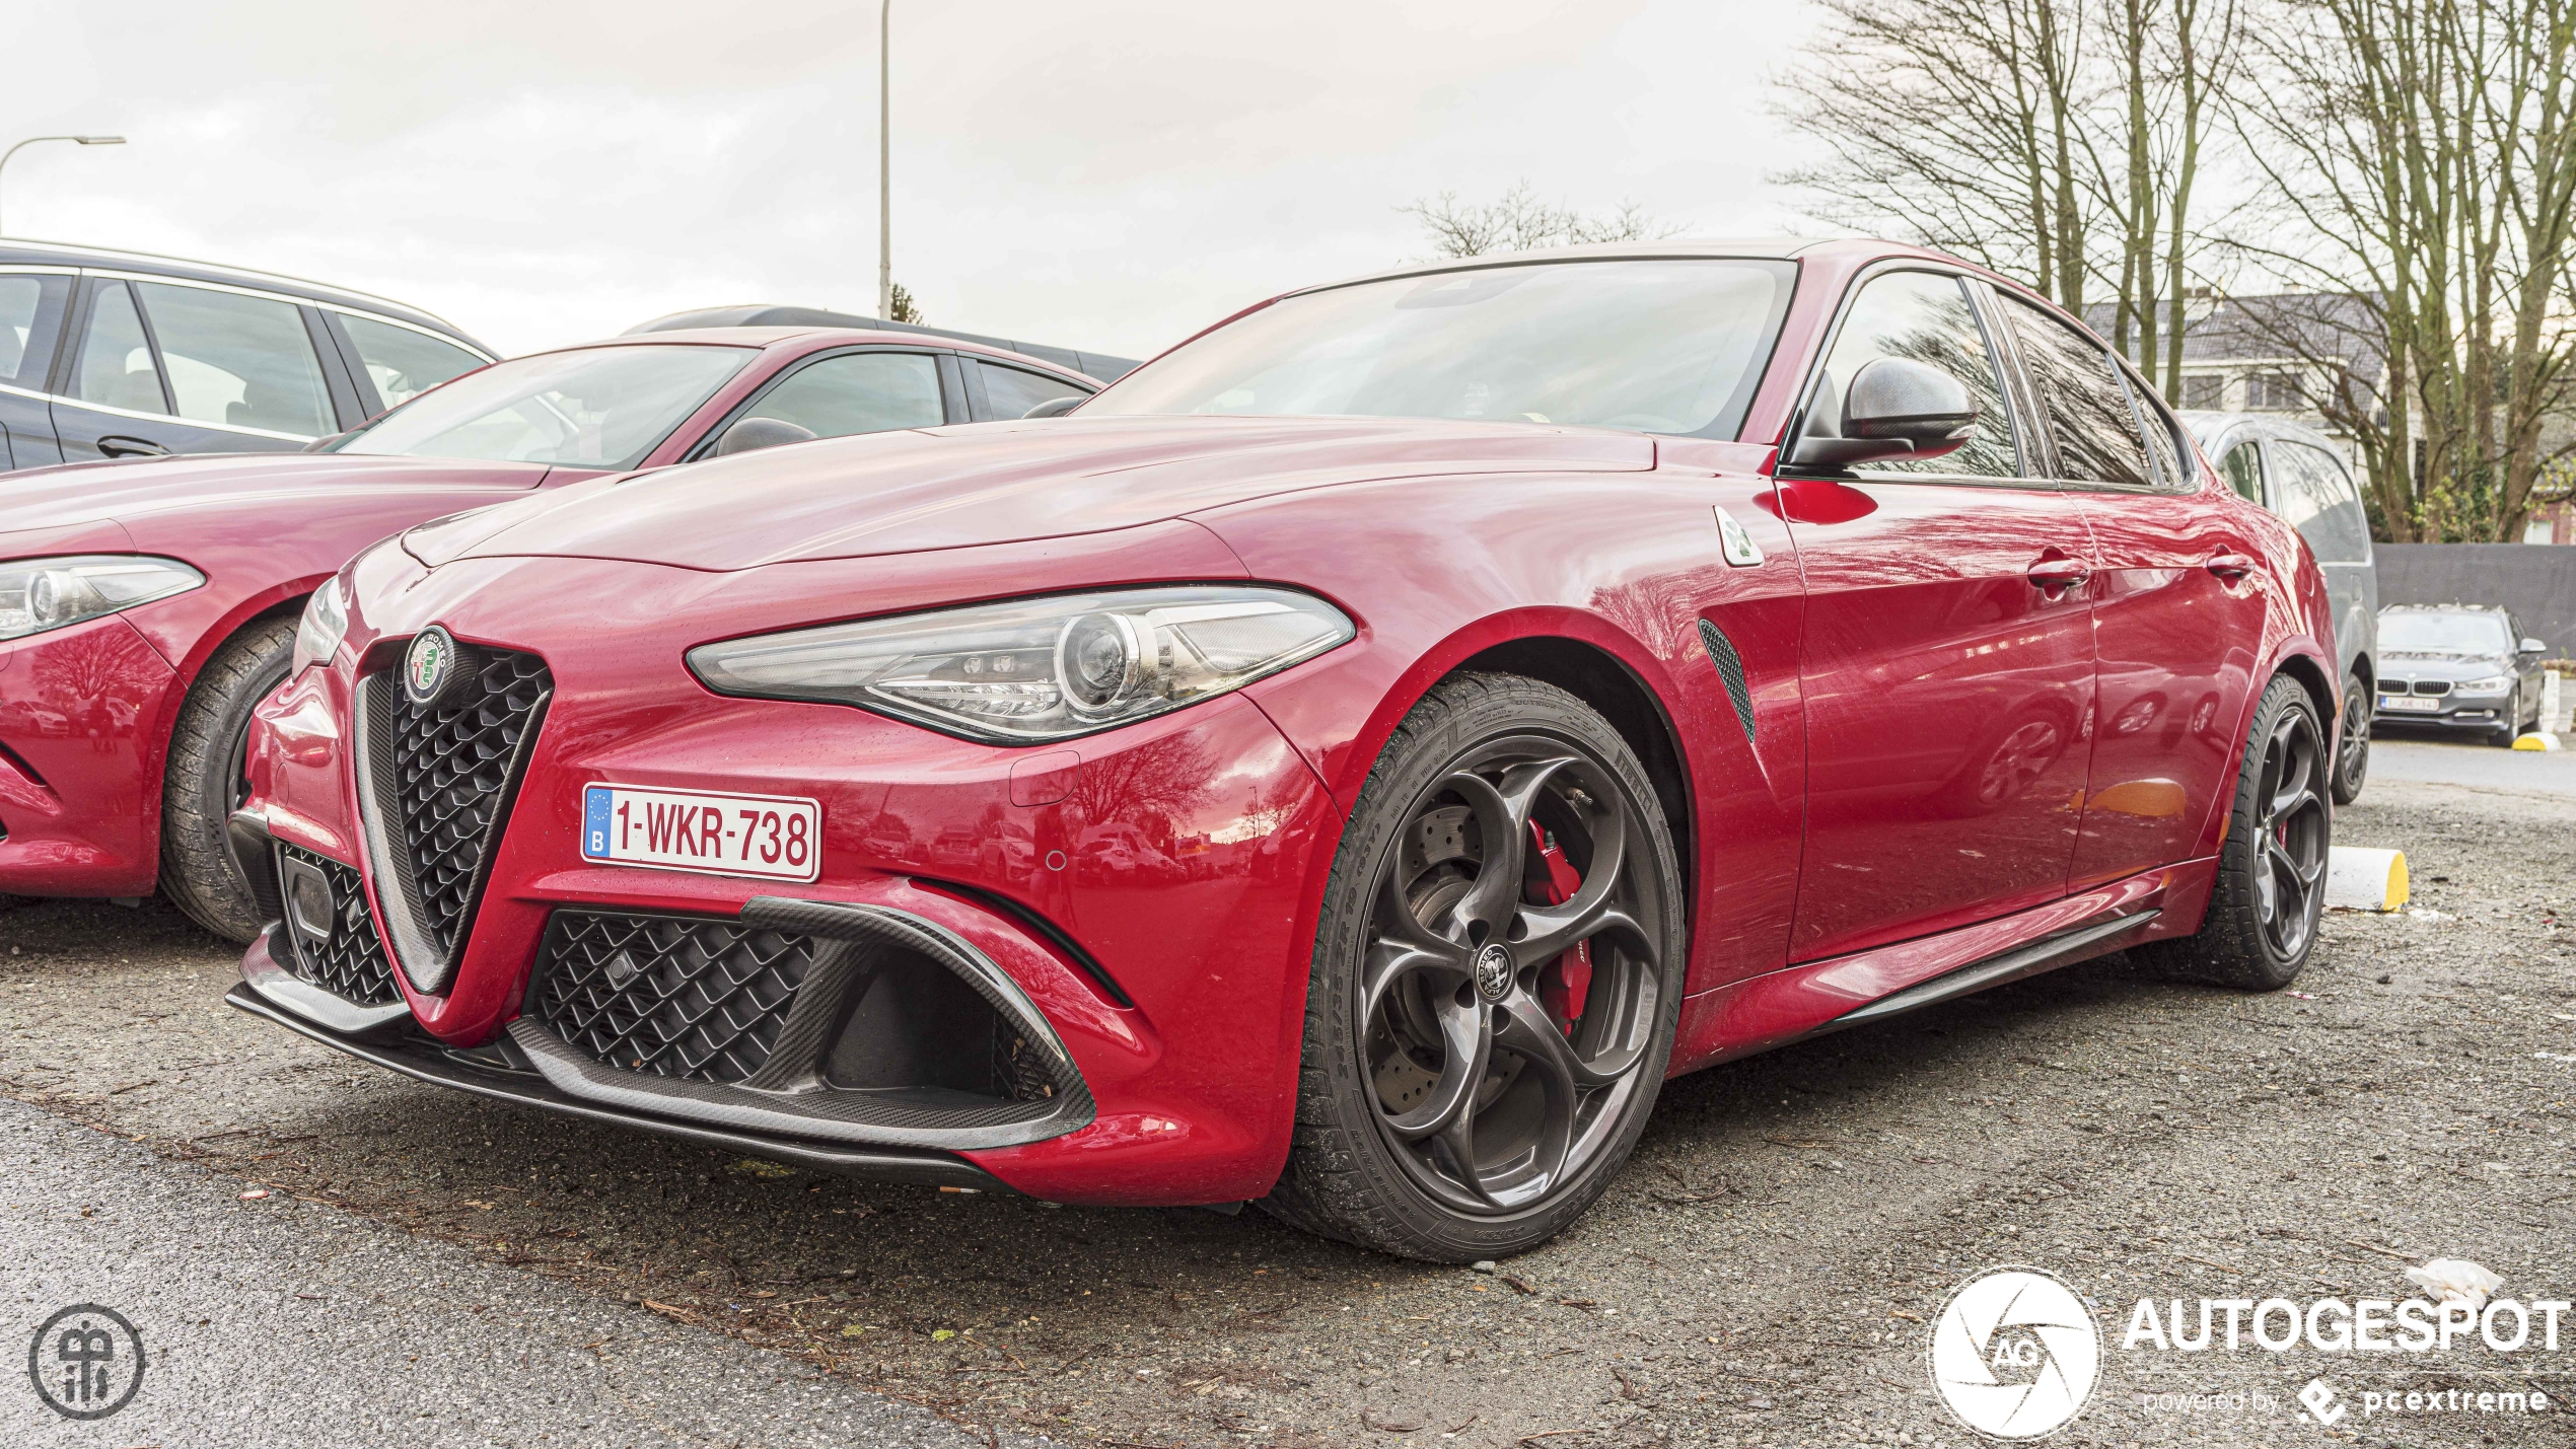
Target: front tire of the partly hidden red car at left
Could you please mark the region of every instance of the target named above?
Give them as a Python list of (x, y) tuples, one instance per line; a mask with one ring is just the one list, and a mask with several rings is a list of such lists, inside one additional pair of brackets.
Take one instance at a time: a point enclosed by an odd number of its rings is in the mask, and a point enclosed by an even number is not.
[(188, 703), (170, 731), (160, 888), (191, 921), (229, 942), (247, 942), (263, 924), (227, 844), (227, 821), (242, 803), (250, 710), (286, 682), (294, 651), (294, 615), (245, 625), (188, 685)]

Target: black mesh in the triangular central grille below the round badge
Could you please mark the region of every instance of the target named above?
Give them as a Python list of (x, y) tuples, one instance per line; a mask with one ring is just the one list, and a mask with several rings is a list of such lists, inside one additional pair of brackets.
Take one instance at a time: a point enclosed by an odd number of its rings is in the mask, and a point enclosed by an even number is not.
[[(453, 960), (482, 888), (484, 860), (500, 844), (520, 741), (554, 692), (554, 674), (536, 654), (459, 651), (474, 669), (435, 705), (415, 705), (392, 679), (392, 788), (404, 852), (402, 885), (412, 919), (440, 957)], [(415, 963), (417, 968), (417, 963)]]

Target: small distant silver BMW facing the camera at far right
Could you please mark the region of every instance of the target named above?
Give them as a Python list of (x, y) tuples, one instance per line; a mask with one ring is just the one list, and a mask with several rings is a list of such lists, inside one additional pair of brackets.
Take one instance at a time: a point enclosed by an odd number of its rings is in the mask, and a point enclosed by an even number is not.
[(2522, 620), (2486, 605), (2388, 605), (2380, 610), (2375, 721), (2478, 734), (2514, 744), (2540, 721), (2540, 656)]

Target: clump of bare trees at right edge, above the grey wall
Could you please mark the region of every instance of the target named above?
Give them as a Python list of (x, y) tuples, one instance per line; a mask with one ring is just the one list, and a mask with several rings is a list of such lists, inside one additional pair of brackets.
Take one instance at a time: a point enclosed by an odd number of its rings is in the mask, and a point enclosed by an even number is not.
[(2272, 219), (2233, 247), (2372, 319), (2378, 376), (2318, 407), (2380, 525), (2517, 538), (2571, 456), (2576, 0), (2275, 0), (2257, 46), (2233, 111)]

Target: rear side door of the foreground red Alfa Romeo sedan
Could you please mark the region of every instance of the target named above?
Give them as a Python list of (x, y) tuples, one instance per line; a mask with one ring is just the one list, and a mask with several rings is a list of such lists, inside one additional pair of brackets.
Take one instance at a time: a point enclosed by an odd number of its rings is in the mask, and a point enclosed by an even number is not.
[(2097, 713), (2069, 888), (2190, 857), (2233, 780), (2259, 659), (2254, 548), (2164, 404), (2099, 337), (2002, 299), (2048, 430), (2058, 486), (2084, 510), (2097, 574)]

